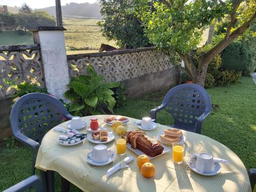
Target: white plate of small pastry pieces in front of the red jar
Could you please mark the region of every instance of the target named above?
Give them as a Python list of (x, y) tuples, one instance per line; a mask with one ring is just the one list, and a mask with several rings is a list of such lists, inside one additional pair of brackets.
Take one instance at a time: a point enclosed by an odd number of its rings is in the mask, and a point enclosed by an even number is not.
[(98, 131), (88, 136), (88, 140), (96, 144), (109, 143), (115, 139), (115, 136), (111, 132)]

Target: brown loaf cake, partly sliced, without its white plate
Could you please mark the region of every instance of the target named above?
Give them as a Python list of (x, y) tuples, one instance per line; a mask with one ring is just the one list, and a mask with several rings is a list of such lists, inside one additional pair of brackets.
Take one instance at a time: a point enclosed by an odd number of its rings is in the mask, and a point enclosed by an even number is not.
[(138, 150), (151, 157), (160, 155), (164, 150), (159, 142), (148, 137), (143, 131), (135, 130), (127, 132), (125, 135), (126, 141), (131, 144), (132, 148), (138, 148)]

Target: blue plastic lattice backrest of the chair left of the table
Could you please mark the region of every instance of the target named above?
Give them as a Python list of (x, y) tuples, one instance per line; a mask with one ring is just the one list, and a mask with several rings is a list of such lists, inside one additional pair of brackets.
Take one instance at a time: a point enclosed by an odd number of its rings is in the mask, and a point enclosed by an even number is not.
[(30, 93), (20, 97), (11, 110), (11, 128), (14, 136), (22, 133), (41, 143), (45, 134), (60, 124), (65, 106), (55, 97), (43, 93)]

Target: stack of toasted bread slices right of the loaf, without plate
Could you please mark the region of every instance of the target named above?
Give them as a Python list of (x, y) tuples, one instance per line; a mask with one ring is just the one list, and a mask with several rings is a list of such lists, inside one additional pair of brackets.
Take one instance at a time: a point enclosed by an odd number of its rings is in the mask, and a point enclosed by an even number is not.
[(167, 144), (173, 144), (174, 142), (179, 142), (181, 140), (182, 131), (176, 129), (164, 130), (164, 134), (160, 135), (161, 141)]

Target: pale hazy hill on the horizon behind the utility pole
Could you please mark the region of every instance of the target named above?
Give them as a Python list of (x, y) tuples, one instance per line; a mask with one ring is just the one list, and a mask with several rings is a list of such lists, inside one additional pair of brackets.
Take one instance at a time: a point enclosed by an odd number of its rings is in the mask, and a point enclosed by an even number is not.
[[(45, 10), (49, 14), (56, 17), (55, 6), (42, 8), (39, 10)], [(65, 6), (61, 6), (62, 17), (90, 17), (90, 18), (102, 18), (100, 14), (100, 5), (98, 3), (70, 3)]]

